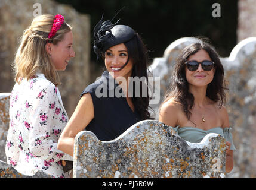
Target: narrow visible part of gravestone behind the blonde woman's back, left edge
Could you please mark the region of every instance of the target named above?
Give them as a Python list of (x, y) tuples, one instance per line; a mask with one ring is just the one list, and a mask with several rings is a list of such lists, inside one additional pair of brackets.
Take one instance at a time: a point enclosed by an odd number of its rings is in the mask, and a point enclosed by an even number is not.
[(5, 161), (5, 144), (9, 129), (9, 100), (11, 93), (0, 93), (0, 160)]

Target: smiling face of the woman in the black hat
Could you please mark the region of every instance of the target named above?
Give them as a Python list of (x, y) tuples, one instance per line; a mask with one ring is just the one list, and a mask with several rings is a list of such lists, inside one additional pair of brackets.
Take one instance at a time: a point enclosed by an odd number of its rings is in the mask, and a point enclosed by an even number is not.
[(125, 63), (128, 60), (128, 51), (124, 43), (112, 46), (105, 52), (105, 66), (110, 74), (113, 74), (113, 78), (116, 77), (131, 77), (133, 62), (129, 59), (126, 66)]

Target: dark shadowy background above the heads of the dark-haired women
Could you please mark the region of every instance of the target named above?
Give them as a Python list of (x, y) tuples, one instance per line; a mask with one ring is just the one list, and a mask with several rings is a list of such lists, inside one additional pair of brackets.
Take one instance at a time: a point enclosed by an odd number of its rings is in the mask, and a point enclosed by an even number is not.
[[(142, 37), (150, 51), (150, 61), (162, 57), (164, 50), (181, 37), (208, 37), (220, 56), (229, 56), (236, 45), (238, 23), (237, 0), (57, 0), (72, 5), (78, 12), (91, 18), (91, 47), (93, 27), (104, 12), (104, 20), (115, 18), (119, 24), (131, 26)], [(221, 6), (221, 17), (212, 16), (212, 4)], [(85, 39), (86, 40), (86, 39)], [(96, 56), (91, 48), (91, 61)]]

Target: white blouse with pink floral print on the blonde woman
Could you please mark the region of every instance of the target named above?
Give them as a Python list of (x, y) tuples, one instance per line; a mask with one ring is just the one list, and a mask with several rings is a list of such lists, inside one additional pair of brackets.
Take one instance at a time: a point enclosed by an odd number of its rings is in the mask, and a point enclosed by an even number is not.
[(60, 160), (73, 157), (57, 150), (67, 124), (60, 92), (44, 74), (16, 83), (10, 97), (7, 163), (24, 175), (43, 170), (53, 178), (68, 178)]

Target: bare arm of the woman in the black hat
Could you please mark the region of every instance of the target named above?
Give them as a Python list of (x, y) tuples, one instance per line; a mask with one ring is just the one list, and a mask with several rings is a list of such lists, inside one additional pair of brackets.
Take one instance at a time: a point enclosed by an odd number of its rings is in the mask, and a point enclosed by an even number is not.
[(75, 112), (67, 122), (66, 127), (60, 135), (57, 148), (64, 153), (73, 156), (74, 141), (78, 132), (83, 131), (85, 127), (94, 118), (94, 107), (90, 93), (84, 94), (76, 106)]

